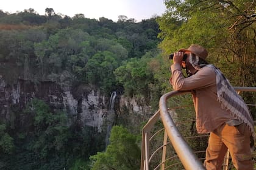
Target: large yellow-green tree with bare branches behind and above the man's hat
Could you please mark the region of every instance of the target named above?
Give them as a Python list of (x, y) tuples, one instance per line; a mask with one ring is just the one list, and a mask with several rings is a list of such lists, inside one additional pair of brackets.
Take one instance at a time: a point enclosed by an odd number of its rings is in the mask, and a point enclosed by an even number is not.
[[(255, 1), (165, 1), (167, 12), (157, 19), (166, 53), (201, 44), (209, 59), (236, 86), (253, 86), (255, 72)], [(229, 69), (225, 69), (229, 67)], [(238, 70), (238, 71), (237, 71)], [(233, 77), (233, 72), (237, 76)], [(239, 84), (237, 84), (239, 82)]]

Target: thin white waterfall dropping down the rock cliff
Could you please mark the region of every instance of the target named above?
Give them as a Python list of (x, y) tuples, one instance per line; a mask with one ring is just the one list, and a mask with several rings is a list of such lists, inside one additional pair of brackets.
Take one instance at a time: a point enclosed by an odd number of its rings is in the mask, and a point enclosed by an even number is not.
[(107, 112), (107, 133), (105, 138), (106, 148), (109, 144), (110, 132), (111, 132), (113, 123), (115, 121), (115, 98), (116, 98), (116, 92), (114, 91), (111, 94), (110, 101), (109, 101), (109, 109)]

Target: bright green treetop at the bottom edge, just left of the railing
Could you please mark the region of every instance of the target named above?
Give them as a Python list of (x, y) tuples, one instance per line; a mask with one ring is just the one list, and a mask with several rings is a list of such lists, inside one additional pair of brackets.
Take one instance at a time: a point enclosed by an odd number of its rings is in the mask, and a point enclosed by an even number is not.
[(91, 170), (140, 169), (140, 149), (136, 139), (126, 128), (113, 126), (106, 151), (90, 157), (93, 161)]

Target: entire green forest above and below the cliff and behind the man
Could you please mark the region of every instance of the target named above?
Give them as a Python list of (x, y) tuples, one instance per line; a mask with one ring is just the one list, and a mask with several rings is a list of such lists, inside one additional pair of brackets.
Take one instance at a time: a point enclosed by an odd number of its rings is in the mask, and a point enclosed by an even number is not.
[[(73, 18), (45, 9), (0, 10), (0, 80), (60, 86), (88, 84), (103, 94), (118, 90), (143, 98), (154, 113), (159, 98), (172, 90), (168, 56), (191, 44), (204, 46), (207, 61), (233, 86), (254, 87), (256, 80), (256, 2), (249, 0), (165, 0), (166, 12), (136, 22)], [(1, 86), (1, 84), (0, 84)], [(3, 92), (0, 92), (3, 94)], [(255, 103), (256, 96), (243, 94)], [(184, 98), (183, 100), (188, 100)], [(34, 98), (10, 106), (0, 120), (0, 169), (140, 169), (141, 127), (116, 122), (105, 148), (94, 127), (70, 123), (62, 110)], [(255, 117), (255, 106), (250, 107)]]

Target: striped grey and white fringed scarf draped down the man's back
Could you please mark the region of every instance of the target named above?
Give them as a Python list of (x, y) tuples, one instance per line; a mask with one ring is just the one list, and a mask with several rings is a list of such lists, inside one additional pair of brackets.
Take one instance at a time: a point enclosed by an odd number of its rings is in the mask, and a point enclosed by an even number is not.
[(221, 70), (208, 64), (198, 56), (190, 57), (190, 63), (194, 68), (200, 70), (202, 67), (210, 67), (215, 70), (216, 74), (216, 88), (217, 88), (217, 100), (221, 103), (221, 108), (229, 110), (230, 114), (246, 124), (252, 134), (254, 134), (254, 120), (251, 113), (244, 102), (243, 98), (238, 95), (235, 89), (229, 83), (226, 77), (222, 74)]

